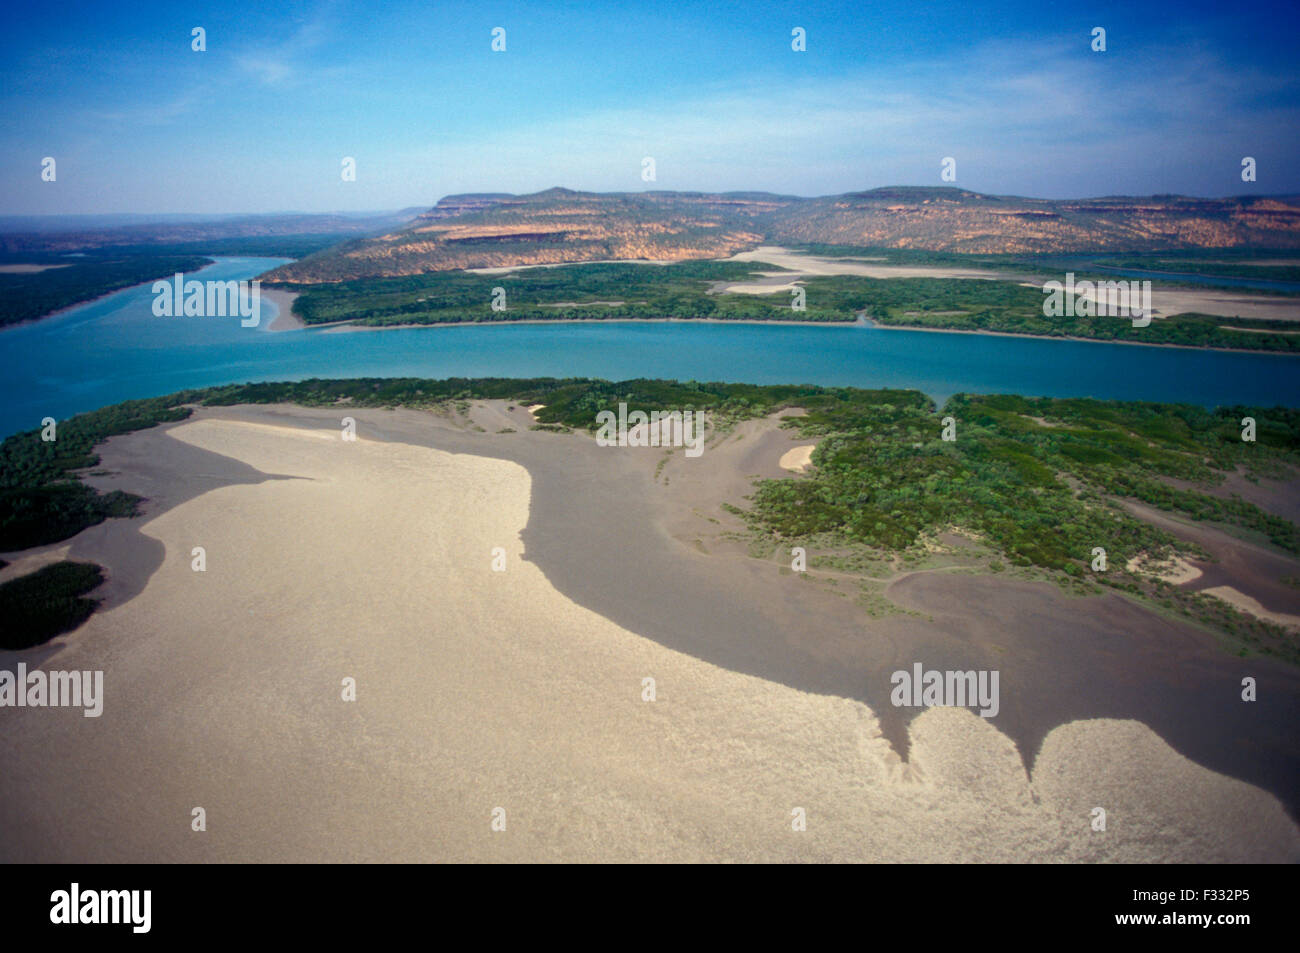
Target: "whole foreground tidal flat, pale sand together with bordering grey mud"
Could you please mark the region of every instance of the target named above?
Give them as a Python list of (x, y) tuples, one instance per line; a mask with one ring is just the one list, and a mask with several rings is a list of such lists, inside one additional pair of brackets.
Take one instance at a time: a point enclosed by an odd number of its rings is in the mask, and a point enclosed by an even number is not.
[[(205, 408), (105, 445), (96, 480), (144, 490), (147, 515), (109, 521), (130, 538), (104, 524), (72, 549), (107, 546), (116, 581), (142, 580), (55, 645), (0, 657), (101, 668), (107, 685), (101, 719), (0, 716), (4, 859), (1300, 859), (1271, 794), (1170, 746), (1183, 722), (1191, 744), (1209, 732), (1204, 757), (1243, 729), (1243, 706), (1205, 702), (1238, 664), (1210, 640), (1117, 597), (944, 573), (890, 589), (933, 621), (864, 628), (819, 584), (718, 549), (719, 494), (779, 475), (796, 442), (776, 421), (660, 471), (656, 449), (528, 432), (528, 410), (502, 402), (464, 420), (347, 408), (354, 443), (341, 413)], [(615, 502), (611, 525), (589, 519)], [(156, 564), (133, 568), (146, 543)], [(1138, 709), (1098, 697), (1112, 657), (1156, 672)], [(897, 722), (872, 672), (900, 658), (997, 659), (1002, 715)], [(1261, 731), (1294, 724), (1274, 706), (1295, 673), (1249, 670), (1271, 686), (1252, 737), (1290, 744)], [(1032, 693), (1056, 715), (1027, 764)], [(1091, 831), (1096, 805), (1108, 833)]]

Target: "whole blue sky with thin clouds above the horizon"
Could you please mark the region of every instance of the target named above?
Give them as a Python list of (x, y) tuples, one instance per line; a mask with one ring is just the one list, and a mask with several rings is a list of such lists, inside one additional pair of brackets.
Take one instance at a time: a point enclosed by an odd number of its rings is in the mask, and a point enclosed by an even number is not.
[(1134, 7), (27, 5), (0, 33), (0, 215), (826, 195), (940, 185), (945, 156), (996, 194), (1300, 192), (1297, 4)]

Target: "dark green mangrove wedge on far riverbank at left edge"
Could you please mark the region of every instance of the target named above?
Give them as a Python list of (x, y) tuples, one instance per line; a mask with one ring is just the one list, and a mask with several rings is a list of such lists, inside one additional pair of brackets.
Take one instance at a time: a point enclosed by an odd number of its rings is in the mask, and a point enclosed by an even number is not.
[(196, 272), (212, 264), (198, 255), (121, 255), (94, 252), (69, 257), (44, 255), (9, 255), (22, 263), (57, 264), (43, 272), (27, 274), (0, 273), (0, 328), (43, 317), (52, 311), (88, 302), (124, 287), (157, 278), (170, 278), (177, 272)]

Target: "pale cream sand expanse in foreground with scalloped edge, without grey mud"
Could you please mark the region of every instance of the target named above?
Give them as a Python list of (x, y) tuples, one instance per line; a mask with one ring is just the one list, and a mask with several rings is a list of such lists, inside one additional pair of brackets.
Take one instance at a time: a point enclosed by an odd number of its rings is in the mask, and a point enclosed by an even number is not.
[[(143, 592), (22, 654), (103, 668), (107, 698), (99, 719), (0, 710), (3, 859), (1300, 859), (1277, 798), (1132, 720), (1057, 727), (1030, 775), (993, 724), (933, 709), (904, 764), (859, 701), (722, 668), (559, 593), (521, 558), (523, 467), (364, 425), (344, 443), (337, 415), (304, 413), (114, 438), (291, 478), (150, 517), (164, 555)], [(528, 437), (578, 439), (484, 439)]]

